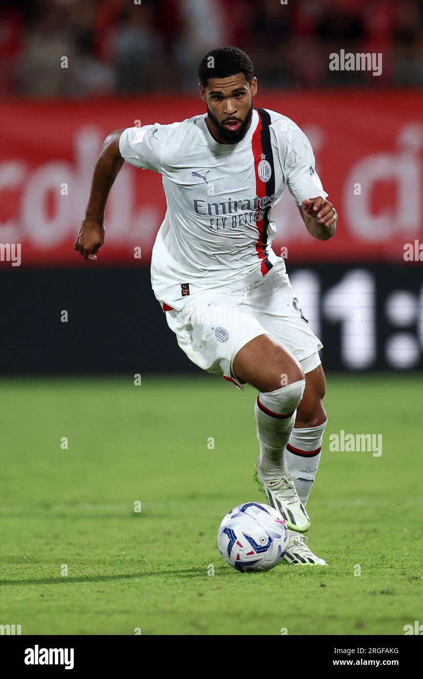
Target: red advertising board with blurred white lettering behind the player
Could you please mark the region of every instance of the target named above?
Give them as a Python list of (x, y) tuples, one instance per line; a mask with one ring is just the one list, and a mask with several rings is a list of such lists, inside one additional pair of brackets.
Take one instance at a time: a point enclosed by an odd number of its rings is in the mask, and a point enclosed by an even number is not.
[[(255, 106), (284, 113), (308, 134), (339, 214), (335, 238), (315, 240), (286, 191), (274, 208), (274, 250), (283, 247), (288, 263), (401, 263), (407, 243), (423, 242), (422, 92), (268, 92)], [(3, 101), (0, 243), (21, 244), (22, 265), (92, 265), (72, 244), (105, 136), (203, 111), (193, 96)], [(165, 210), (160, 175), (125, 164), (109, 197), (106, 244), (96, 265), (147, 265)], [(134, 259), (134, 248), (141, 248), (141, 259)]]

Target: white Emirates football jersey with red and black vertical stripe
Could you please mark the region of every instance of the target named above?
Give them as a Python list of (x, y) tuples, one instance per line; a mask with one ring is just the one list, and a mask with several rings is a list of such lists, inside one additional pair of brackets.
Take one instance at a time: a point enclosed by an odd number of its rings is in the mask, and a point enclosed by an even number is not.
[(159, 172), (167, 211), (151, 257), (151, 283), (164, 308), (180, 309), (205, 289), (236, 291), (263, 278), (280, 257), (273, 206), (287, 186), (297, 205), (328, 194), (304, 132), (289, 118), (254, 109), (242, 141), (220, 144), (206, 113), (122, 132), (126, 162)]

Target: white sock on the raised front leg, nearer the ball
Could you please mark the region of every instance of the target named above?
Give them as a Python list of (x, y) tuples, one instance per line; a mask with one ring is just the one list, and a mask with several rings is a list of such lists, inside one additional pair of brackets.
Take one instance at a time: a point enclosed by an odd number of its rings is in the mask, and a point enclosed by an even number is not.
[(257, 397), (255, 420), (260, 444), (259, 467), (266, 477), (280, 476), (284, 447), (291, 436), (297, 405), (305, 387), (306, 380), (299, 380)]

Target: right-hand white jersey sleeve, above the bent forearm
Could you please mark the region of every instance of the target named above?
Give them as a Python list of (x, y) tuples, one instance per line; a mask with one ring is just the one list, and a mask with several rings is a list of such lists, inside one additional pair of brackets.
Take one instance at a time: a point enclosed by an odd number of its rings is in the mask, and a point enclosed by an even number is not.
[(310, 141), (297, 126), (292, 131), (288, 144), (285, 172), (288, 189), (297, 205), (301, 205), (306, 198), (316, 198), (316, 196), (326, 198), (329, 195), (323, 189), (316, 172), (316, 160)]

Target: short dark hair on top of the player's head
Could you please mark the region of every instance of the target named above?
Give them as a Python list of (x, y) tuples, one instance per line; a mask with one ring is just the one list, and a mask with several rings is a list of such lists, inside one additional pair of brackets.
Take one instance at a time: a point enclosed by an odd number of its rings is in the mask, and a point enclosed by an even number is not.
[(244, 73), (246, 81), (251, 84), (254, 77), (253, 63), (248, 54), (237, 47), (218, 47), (210, 50), (203, 56), (198, 67), (198, 77), (204, 87), (207, 86), (208, 78), (227, 78), (237, 73)]

